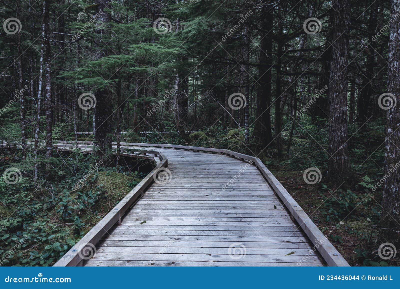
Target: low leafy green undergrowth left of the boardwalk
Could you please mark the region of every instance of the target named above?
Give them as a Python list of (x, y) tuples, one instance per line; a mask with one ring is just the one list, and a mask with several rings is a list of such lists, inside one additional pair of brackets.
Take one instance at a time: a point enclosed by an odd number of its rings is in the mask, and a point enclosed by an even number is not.
[[(56, 159), (56, 158), (52, 158)], [(50, 163), (56, 166), (60, 159)], [(72, 162), (73, 161), (73, 162)], [(143, 176), (104, 171), (64, 157), (66, 166), (51, 183), (28, 178), (9, 185), (0, 178), (0, 262), (3, 266), (51, 266), (108, 213)], [(13, 163), (22, 167), (20, 163)], [(8, 166), (7, 166), (8, 167)], [(5, 168), (3, 168), (5, 169)]]

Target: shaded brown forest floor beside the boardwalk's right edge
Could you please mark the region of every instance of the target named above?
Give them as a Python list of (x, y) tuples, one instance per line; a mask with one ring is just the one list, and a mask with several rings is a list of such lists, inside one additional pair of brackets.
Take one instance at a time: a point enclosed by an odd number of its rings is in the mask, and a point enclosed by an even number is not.
[[(324, 194), (329, 193), (321, 190), (321, 184), (304, 183), (304, 171), (289, 171), (277, 165), (269, 169), (351, 266), (387, 266), (386, 263), (390, 266), (400, 265), (399, 257), (390, 259), (390, 262), (382, 262), (378, 256), (378, 228), (362, 205), (352, 209), (340, 220), (326, 220), (327, 211), (331, 208)], [(336, 197), (339, 199), (341, 196)], [(379, 205), (377, 200), (375, 202), (375, 205)]]

